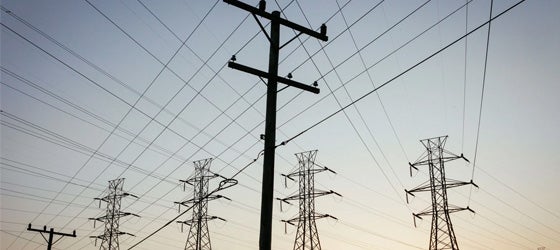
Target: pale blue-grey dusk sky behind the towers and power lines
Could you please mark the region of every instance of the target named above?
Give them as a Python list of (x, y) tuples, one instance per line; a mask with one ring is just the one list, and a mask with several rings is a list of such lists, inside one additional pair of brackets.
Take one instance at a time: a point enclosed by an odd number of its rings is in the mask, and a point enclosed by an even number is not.
[[(342, 196), (315, 201), (337, 218), (316, 221), (323, 249), (427, 249), (431, 218), (415, 227), (412, 214), (430, 194), (407, 203), (404, 190), (428, 181), (409, 162), (438, 136), (470, 161), (446, 163), (446, 177), (479, 186), (447, 193), (475, 211), (451, 214), (461, 249), (560, 249), (560, 2), (517, 3), (267, 1), (292, 22), (327, 26), (327, 42), (302, 34), (280, 51), (279, 75), (321, 92), (278, 92), (276, 144), (304, 133), (276, 148), (274, 190), (297, 194), (281, 174), (297, 169), (296, 153), (318, 150), (315, 163), (336, 174), (317, 174), (315, 187)], [(140, 215), (121, 218), (135, 235), (119, 237), (121, 249), (184, 248), (178, 223), (146, 237), (193, 197), (180, 180), (207, 158), (238, 181), (218, 193), (230, 200), (209, 202), (225, 220), (208, 222), (213, 248), (258, 248), (266, 84), (227, 67), (236, 55), (267, 70), (252, 16), (222, 1), (1, 5), (1, 249), (45, 248), (29, 223), (76, 230), (54, 249), (98, 248), (90, 236), (103, 225), (88, 218), (105, 214), (94, 198), (118, 178), (138, 197), (121, 211)], [(281, 28), (282, 43), (295, 35)], [(272, 249), (293, 247), (296, 227), (281, 220), (297, 214), (296, 203), (274, 203)]]

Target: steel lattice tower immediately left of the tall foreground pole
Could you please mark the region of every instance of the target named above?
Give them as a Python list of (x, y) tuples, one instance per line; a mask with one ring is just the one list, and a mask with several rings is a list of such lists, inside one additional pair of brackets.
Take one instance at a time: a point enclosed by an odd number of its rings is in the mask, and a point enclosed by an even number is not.
[(210, 180), (215, 177), (219, 177), (219, 175), (210, 172), (211, 163), (211, 158), (195, 161), (194, 176), (188, 180), (180, 180), (184, 183), (184, 186), (186, 186), (186, 184), (193, 186), (192, 199), (175, 202), (176, 204), (179, 204), (179, 208), (181, 205), (187, 207), (192, 206), (192, 218), (186, 221), (177, 221), (177, 223), (181, 223), (182, 225), (190, 226), (187, 243), (185, 244), (186, 250), (212, 249), (212, 245), (210, 244), (210, 232), (208, 231), (208, 221), (214, 219), (224, 220), (217, 216), (208, 215), (208, 201), (219, 198), (228, 199), (222, 195), (208, 194)]

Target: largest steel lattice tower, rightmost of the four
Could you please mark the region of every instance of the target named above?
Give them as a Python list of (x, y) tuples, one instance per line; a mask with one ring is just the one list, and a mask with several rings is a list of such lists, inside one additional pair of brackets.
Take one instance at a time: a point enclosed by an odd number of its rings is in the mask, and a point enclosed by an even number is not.
[(406, 190), (406, 201), (408, 195), (414, 196), (416, 192), (429, 191), (432, 195), (432, 206), (424, 211), (412, 214), (414, 216), (414, 226), (416, 226), (416, 218), (422, 219), (423, 216), (432, 216), (432, 225), (430, 232), (430, 250), (452, 249), (458, 250), (457, 238), (451, 224), (450, 213), (469, 210), (474, 213), (468, 206), (466, 208), (449, 205), (447, 201), (447, 189), (460, 187), (464, 185), (474, 185), (473, 181), (464, 182), (450, 180), (445, 177), (445, 163), (457, 159), (464, 159), (469, 162), (463, 154), (456, 155), (445, 150), (447, 136), (434, 137), (420, 140), (426, 148), (426, 152), (415, 162), (409, 163), (410, 175), (412, 169), (418, 170), (418, 166), (428, 166), (430, 176), (429, 182), (425, 182), (420, 186)]

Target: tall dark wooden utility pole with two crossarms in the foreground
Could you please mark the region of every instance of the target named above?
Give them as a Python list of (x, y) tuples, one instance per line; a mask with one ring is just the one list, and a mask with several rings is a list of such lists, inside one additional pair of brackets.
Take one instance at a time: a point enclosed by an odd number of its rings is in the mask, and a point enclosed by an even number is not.
[[(268, 79), (267, 95), (266, 95), (266, 122), (265, 122), (265, 135), (264, 135), (264, 162), (263, 162), (263, 181), (262, 181), (262, 196), (261, 196), (261, 224), (259, 236), (259, 249), (270, 250), (272, 241), (272, 204), (273, 204), (273, 191), (274, 191), (274, 157), (275, 157), (275, 141), (276, 141), (276, 96), (278, 91), (278, 82), (284, 83), (288, 86), (296, 87), (302, 90), (310, 91), (315, 94), (319, 93), (319, 89), (315, 86), (306, 85), (290, 79), (278, 76), (278, 54), (280, 49), (286, 44), (293, 41), (299, 35), (305, 33), (317, 39), (327, 41), (328, 37), (327, 27), (325, 24), (321, 26), (321, 32), (315, 32), (311, 29), (303, 27), (299, 24), (290, 22), (280, 17), (279, 11), (267, 13), (266, 2), (261, 0), (259, 7), (253, 7), (238, 0), (224, 0), (224, 2), (231, 4), (235, 7), (250, 12), (255, 20), (266, 34), (270, 41), (268, 72), (263, 72), (258, 69), (253, 69), (238, 63), (235, 63), (235, 55), (228, 63), (228, 66), (249, 74), (257, 75), (262, 78)], [(270, 35), (264, 30), (264, 26), (259, 21), (257, 16), (270, 20)], [(300, 33), (294, 38), (288, 40), (284, 45), (280, 45), (280, 25), (292, 28)], [(316, 85), (316, 84), (314, 84)]]

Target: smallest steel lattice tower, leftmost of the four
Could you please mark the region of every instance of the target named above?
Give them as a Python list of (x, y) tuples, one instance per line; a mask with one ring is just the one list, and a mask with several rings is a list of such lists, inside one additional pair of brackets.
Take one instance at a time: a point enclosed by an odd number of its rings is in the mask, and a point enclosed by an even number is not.
[(95, 238), (95, 244), (97, 245), (97, 240), (101, 240), (101, 245), (99, 249), (106, 249), (106, 250), (118, 250), (119, 249), (119, 236), (123, 234), (131, 235), (132, 234), (122, 232), (119, 230), (119, 221), (121, 217), (124, 216), (136, 216), (136, 214), (122, 212), (121, 211), (121, 199), (125, 196), (132, 196), (134, 198), (138, 198), (135, 195), (123, 192), (123, 184), (124, 178), (115, 179), (109, 181), (109, 189), (108, 194), (102, 198), (95, 198), (95, 200), (99, 200), (99, 207), (101, 207), (101, 202), (107, 203), (106, 213), (104, 216), (97, 217), (97, 218), (89, 218), (90, 220), (95, 222), (100, 221), (105, 224), (105, 231), (101, 235), (97, 236), (90, 236), (90, 238)]

